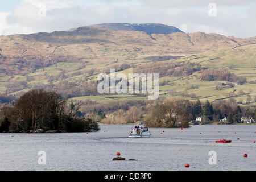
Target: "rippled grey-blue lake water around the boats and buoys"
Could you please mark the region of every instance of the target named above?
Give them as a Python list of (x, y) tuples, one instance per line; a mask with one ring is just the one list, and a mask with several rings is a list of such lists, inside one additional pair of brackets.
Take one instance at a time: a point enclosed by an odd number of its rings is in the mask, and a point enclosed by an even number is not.
[[(127, 138), (131, 127), (100, 125), (89, 134), (0, 134), (0, 170), (256, 170), (256, 125), (154, 128), (150, 138)], [(214, 142), (220, 138), (232, 143)], [(39, 151), (46, 152), (46, 165), (38, 164)], [(209, 151), (216, 151), (216, 165), (209, 164)], [(137, 161), (112, 161), (117, 152)]]

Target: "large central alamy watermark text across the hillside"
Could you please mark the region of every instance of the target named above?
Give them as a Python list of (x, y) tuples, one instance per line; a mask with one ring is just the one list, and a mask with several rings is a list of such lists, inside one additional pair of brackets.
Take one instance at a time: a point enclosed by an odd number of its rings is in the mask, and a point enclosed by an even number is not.
[[(110, 69), (110, 77), (106, 73), (98, 75), (98, 93), (100, 94), (148, 94), (148, 100), (159, 97), (159, 74), (129, 73), (128, 79), (124, 73), (115, 75), (115, 69)], [(152, 84), (154, 80), (154, 85)], [(154, 86), (154, 88), (153, 88)], [(127, 88), (128, 87), (128, 88)]]

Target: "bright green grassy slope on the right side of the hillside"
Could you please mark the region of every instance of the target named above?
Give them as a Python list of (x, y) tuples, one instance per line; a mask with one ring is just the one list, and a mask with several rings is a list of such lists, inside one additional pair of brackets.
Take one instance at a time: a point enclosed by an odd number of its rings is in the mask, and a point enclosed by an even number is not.
[[(197, 57), (203, 57), (198, 58)], [(218, 58), (217, 58), (218, 57)], [(217, 58), (217, 59), (215, 59)], [(192, 59), (192, 60), (190, 60)], [(211, 60), (213, 59), (213, 60)], [(228, 71), (235, 73), (238, 76), (246, 77), (247, 82), (256, 80), (256, 46), (241, 46), (235, 49), (221, 49), (219, 51), (208, 51), (196, 56), (189, 56), (185, 59), (178, 59), (176, 62), (187, 61), (200, 63), (202, 68), (216, 68), (216, 69), (228, 69)], [(174, 81), (173, 86), (160, 86), (161, 90), (176, 89), (177, 91), (184, 91), (188, 85), (199, 85), (199, 89), (188, 90), (188, 93), (195, 93), (196, 96), (206, 97), (201, 100), (214, 101), (220, 98), (229, 97), (228, 94), (234, 92), (237, 94), (238, 90), (243, 90), (245, 93), (255, 92), (255, 84), (243, 84), (229, 88), (229, 86), (223, 86), (222, 90), (216, 90), (214, 81), (201, 81), (198, 77), (199, 72), (194, 73), (191, 76), (182, 78), (179, 81)], [(162, 80), (168, 80), (168, 78), (162, 78)], [(174, 78), (169, 78), (170, 80)], [(226, 82), (226, 81), (220, 81)], [(236, 91), (234, 91), (236, 90)], [(210, 97), (209, 97), (210, 96)], [(256, 96), (256, 93), (252, 93), (251, 96)], [(236, 97), (237, 101), (242, 99), (246, 101), (246, 96)], [(189, 98), (188, 98), (189, 99)]]

